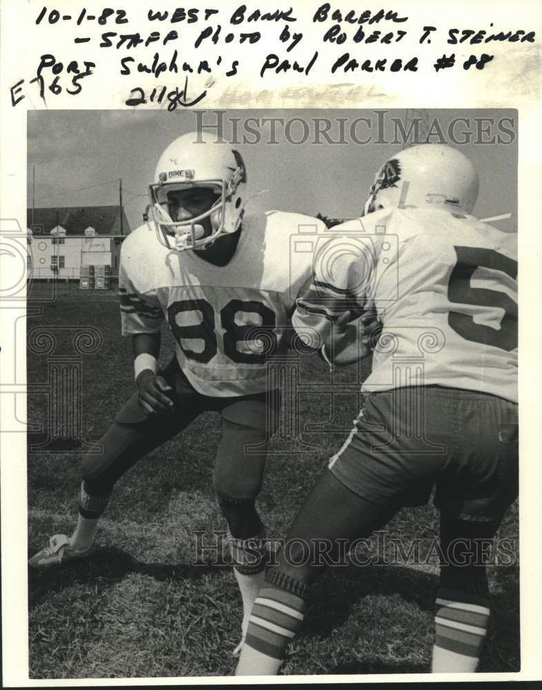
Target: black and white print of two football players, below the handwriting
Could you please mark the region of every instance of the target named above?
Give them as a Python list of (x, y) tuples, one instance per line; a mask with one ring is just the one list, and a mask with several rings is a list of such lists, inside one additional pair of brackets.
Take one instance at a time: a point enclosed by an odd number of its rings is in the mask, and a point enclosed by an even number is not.
[(519, 671), (517, 124), (29, 112), (30, 678)]

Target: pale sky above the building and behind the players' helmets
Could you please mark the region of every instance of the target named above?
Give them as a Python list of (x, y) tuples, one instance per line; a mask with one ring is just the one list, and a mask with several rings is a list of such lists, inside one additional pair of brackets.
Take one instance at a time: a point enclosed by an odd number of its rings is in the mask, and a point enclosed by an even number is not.
[[(253, 208), (343, 218), (360, 215), (375, 172), (403, 148), (394, 120), (404, 126), (407, 118), (405, 109), (222, 112), (205, 111), (200, 121), (220, 120), (224, 139), (236, 137), (235, 148), (248, 171), (249, 197), (258, 195), (251, 201)], [(420, 111), (410, 111), (413, 114), (419, 116)], [(480, 193), (474, 215), (512, 213), (511, 219), (499, 221), (499, 228), (516, 230), (517, 111), (425, 110), (422, 115), (433, 143), (444, 139), (456, 146), (478, 170)], [(274, 137), (265, 118), (275, 119)], [(322, 133), (325, 121), (331, 142)], [(195, 130), (197, 122), (193, 110), (164, 108), (30, 111), (28, 206), (32, 206), (32, 170), (36, 208), (118, 204), (122, 179), (126, 216), (135, 229), (142, 222), (159, 155), (173, 139)], [(396, 132), (399, 139), (394, 141)], [(262, 190), (266, 191), (258, 194)]]

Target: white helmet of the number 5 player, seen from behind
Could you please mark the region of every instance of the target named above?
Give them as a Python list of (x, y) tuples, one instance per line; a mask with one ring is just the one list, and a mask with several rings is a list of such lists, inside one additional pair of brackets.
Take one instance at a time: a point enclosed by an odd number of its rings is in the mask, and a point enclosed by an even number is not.
[(471, 213), (478, 175), (470, 160), (445, 144), (420, 144), (398, 152), (380, 168), (364, 215), (378, 208), (446, 208)]

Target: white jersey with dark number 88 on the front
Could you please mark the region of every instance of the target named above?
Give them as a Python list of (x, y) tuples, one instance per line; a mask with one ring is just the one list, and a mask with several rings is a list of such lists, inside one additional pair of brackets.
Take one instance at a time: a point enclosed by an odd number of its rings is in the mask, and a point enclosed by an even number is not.
[(245, 216), (235, 255), (215, 266), (192, 251), (159, 244), (144, 225), (122, 245), (119, 291), (123, 335), (156, 333), (164, 321), (177, 360), (203, 395), (267, 389), (267, 357), (284, 351), (296, 298), (312, 275), (312, 255), (291, 247), (322, 221), (269, 211)]

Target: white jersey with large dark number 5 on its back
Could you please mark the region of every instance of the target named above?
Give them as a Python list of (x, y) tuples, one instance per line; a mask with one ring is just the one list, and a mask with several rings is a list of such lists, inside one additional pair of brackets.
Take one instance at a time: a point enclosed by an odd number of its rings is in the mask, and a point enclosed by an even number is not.
[(362, 391), (438, 385), (517, 401), (515, 234), (420, 208), (333, 230), (292, 322), (325, 339), (340, 313), (375, 306), (383, 332)]

